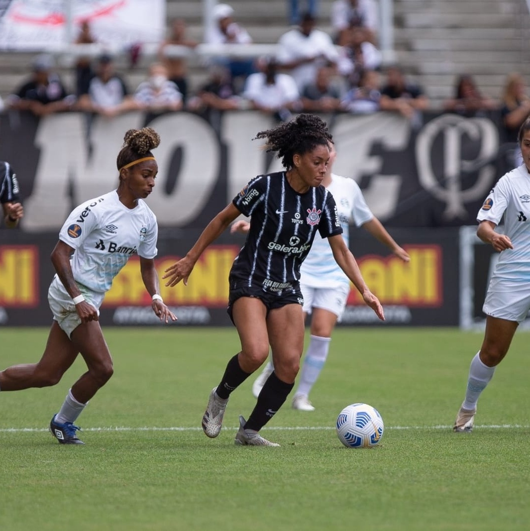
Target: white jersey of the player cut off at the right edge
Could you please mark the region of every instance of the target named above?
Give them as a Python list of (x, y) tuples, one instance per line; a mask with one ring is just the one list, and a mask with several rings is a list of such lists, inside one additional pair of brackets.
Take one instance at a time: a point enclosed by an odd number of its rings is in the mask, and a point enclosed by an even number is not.
[(499, 179), (478, 211), (477, 221), (499, 225), (502, 216), (503, 232), (514, 248), (499, 254), (492, 282), (499, 279), (505, 281), (503, 286), (527, 287), (530, 281), (530, 173), (524, 164)]

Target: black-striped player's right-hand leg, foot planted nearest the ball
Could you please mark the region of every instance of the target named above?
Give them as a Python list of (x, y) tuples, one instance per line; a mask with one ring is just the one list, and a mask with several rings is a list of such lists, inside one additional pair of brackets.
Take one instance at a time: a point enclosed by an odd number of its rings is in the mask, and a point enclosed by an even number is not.
[(284, 404), (300, 366), (304, 346), (304, 318), (300, 304), (286, 304), (270, 310), (267, 329), (274, 372), (265, 382), (249, 419), (245, 421), (240, 417), (236, 444), (278, 446), (263, 439), (258, 432)]

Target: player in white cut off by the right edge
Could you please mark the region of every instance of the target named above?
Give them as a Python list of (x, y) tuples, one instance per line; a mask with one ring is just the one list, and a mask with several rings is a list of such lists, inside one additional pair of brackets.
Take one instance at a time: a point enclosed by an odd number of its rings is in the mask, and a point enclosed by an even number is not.
[[(482, 307), (486, 314), (484, 339), (469, 367), (455, 432), (473, 430), (478, 398), (530, 309), (530, 118), (520, 127), (518, 141), (523, 164), (499, 179), (477, 215), (477, 236), (501, 254)], [(503, 217), (500, 234), (495, 227)]]

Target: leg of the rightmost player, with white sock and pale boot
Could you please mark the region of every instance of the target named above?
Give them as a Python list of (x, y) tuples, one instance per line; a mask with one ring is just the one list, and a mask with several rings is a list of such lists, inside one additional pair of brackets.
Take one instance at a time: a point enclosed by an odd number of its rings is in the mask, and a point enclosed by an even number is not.
[(455, 432), (473, 430), (478, 398), (493, 378), (495, 367), (506, 356), (517, 327), (517, 321), (498, 319), (491, 315), (486, 317), (484, 340), (469, 367), (464, 402), (453, 427)]

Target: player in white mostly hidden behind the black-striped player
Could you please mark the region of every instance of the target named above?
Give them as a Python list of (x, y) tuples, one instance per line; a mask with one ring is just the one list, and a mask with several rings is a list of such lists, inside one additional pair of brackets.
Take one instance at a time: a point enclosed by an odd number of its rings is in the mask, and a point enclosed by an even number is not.
[[(394, 241), (379, 219), (373, 215), (357, 183), (353, 179), (332, 173), (337, 151), (331, 142), (329, 150), (328, 169), (322, 184), (331, 192), (337, 204), (346, 245), (349, 244), (349, 223), (353, 221), (357, 227), (363, 227), (386, 245), (401, 260), (408, 262), (407, 252)], [(247, 228), (246, 221), (236, 221), (232, 226), (232, 232), (238, 230), (245, 232)], [(293, 398), (293, 408), (313, 411), (314, 406), (309, 401), (309, 393), (326, 363), (331, 333), (346, 307), (350, 285), (348, 277), (333, 258), (328, 242), (318, 234), (315, 236), (311, 251), (304, 260), (300, 272), (304, 317), (307, 314), (311, 315), (311, 336)], [(269, 362), (253, 383), (254, 396), (259, 395), (263, 383), (272, 371), (273, 366), (269, 358)]]

